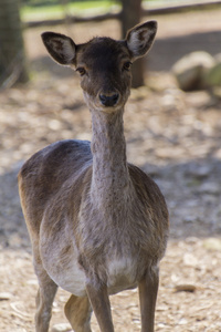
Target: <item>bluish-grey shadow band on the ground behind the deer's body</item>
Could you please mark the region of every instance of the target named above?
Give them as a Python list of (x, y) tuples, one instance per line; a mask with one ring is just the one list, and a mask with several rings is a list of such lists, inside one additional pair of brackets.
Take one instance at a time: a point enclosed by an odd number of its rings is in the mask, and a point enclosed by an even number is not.
[[(221, 236), (221, 163), (196, 159), (165, 167), (141, 167), (159, 185), (170, 212), (171, 239)], [(30, 249), (20, 207), (17, 175), (19, 167), (0, 177), (0, 242), (3, 248)]]

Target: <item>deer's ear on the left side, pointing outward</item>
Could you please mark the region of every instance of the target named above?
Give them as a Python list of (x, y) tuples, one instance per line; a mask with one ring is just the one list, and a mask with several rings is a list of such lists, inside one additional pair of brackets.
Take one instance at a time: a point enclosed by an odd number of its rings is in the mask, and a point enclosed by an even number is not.
[(41, 37), (48, 52), (56, 62), (64, 65), (73, 64), (76, 45), (71, 38), (54, 32), (44, 32)]

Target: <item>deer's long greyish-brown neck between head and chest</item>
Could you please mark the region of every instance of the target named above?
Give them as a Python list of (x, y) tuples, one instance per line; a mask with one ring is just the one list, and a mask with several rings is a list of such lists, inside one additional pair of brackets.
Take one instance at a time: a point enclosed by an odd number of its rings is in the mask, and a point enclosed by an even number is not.
[(129, 188), (123, 113), (92, 113), (92, 195), (97, 206), (122, 203)]

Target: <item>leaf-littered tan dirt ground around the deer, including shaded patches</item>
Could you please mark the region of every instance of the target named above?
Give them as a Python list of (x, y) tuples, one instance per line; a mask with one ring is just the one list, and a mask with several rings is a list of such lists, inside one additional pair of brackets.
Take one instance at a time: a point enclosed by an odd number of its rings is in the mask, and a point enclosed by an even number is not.
[[(128, 159), (157, 181), (170, 212), (156, 331), (221, 331), (221, 100), (207, 91), (181, 92), (170, 73), (172, 63), (191, 50), (221, 52), (220, 17), (221, 10), (214, 10), (156, 18), (159, 33), (148, 58), (147, 85), (131, 91), (125, 112)], [(76, 42), (101, 31), (119, 35), (115, 21), (53, 30), (72, 34)], [(90, 113), (78, 80), (49, 59), (41, 32), (24, 33), (32, 81), (0, 92), (2, 332), (34, 331), (38, 282), (19, 203), (18, 170), (46, 144), (91, 139)], [(59, 291), (51, 326), (66, 323), (67, 298)], [(113, 297), (112, 308), (116, 331), (140, 331), (136, 290)], [(98, 331), (94, 317), (93, 331)]]

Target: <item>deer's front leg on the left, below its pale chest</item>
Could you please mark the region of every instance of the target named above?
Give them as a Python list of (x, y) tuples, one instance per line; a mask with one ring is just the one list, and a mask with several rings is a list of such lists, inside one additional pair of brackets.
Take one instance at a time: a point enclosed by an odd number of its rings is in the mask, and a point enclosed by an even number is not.
[(86, 291), (101, 331), (114, 332), (107, 287), (103, 284), (96, 284), (95, 287), (92, 283), (87, 283)]

